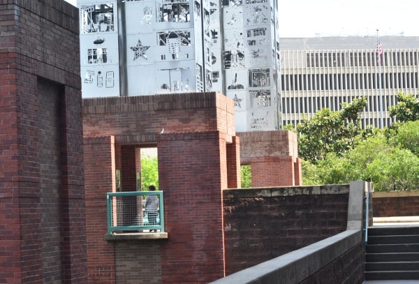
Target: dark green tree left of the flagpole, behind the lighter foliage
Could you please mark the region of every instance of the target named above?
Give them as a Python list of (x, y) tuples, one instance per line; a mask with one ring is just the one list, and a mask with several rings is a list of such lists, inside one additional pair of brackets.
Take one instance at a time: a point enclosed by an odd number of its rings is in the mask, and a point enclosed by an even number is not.
[(311, 119), (304, 118), (297, 125), (299, 156), (317, 163), (328, 153), (342, 156), (345, 151), (353, 149), (355, 138), (362, 133), (359, 120), (366, 106), (365, 97), (355, 98), (350, 104), (342, 104), (339, 111), (323, 108)]

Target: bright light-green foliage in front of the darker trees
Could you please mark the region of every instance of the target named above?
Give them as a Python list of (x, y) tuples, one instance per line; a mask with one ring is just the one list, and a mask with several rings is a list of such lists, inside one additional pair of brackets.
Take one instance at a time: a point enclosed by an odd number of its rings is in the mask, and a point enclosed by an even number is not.
[[(303, 163), (304, 165), (304, 163)], [(346, 184), (349, 181), (372, 181), (374, 190), (415, 190), (419, 188), (419, 157), (409, 149), (388, 140), (384, 131), (358, 142), (339, 157), (329, 153), (325, 159), (302, 168), (303, 182)]]

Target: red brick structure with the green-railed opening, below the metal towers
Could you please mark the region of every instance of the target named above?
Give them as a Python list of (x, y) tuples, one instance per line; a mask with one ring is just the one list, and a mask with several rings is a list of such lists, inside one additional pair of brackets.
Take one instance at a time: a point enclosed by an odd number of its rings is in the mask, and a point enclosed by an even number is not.
[[(208, 283), (221, 278), (221, 189), (240, 184), (233, 100), (205, 93), (95, 98), (83, 105), (89, 282)], [(107, 137), (114, 135), (112, 145)], [(109, 153), (114, 149), (115, 165), (131, 170), (131, 180), (138, 165), (135, 148), (150, 144), (158, 147), (168, 239), (105, 241), (103, 202), (115, 190)], [(141, 265), (147, 259), (149, 264)]]

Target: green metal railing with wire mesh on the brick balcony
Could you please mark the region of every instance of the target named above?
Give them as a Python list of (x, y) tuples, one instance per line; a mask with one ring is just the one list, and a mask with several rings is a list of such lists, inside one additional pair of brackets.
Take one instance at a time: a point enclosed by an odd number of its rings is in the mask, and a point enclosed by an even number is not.
[[(159, 210), (156, 214), (145, 209), (147, 196), (156, 195)], [(108, 234), (119, 232), (164, 232), (163, 191), (125, 191), (108, 193)]]

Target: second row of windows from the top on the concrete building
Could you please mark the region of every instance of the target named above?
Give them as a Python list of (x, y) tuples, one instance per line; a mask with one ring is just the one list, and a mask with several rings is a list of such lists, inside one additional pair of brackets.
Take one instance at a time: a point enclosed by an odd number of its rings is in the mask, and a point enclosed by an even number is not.
[[(383, 89), (416, 88), (418, 80), (418, 72), (381, 73)], [(282, 91), (356, 90), (378, 87), (377, 73), (281, 75)]]

